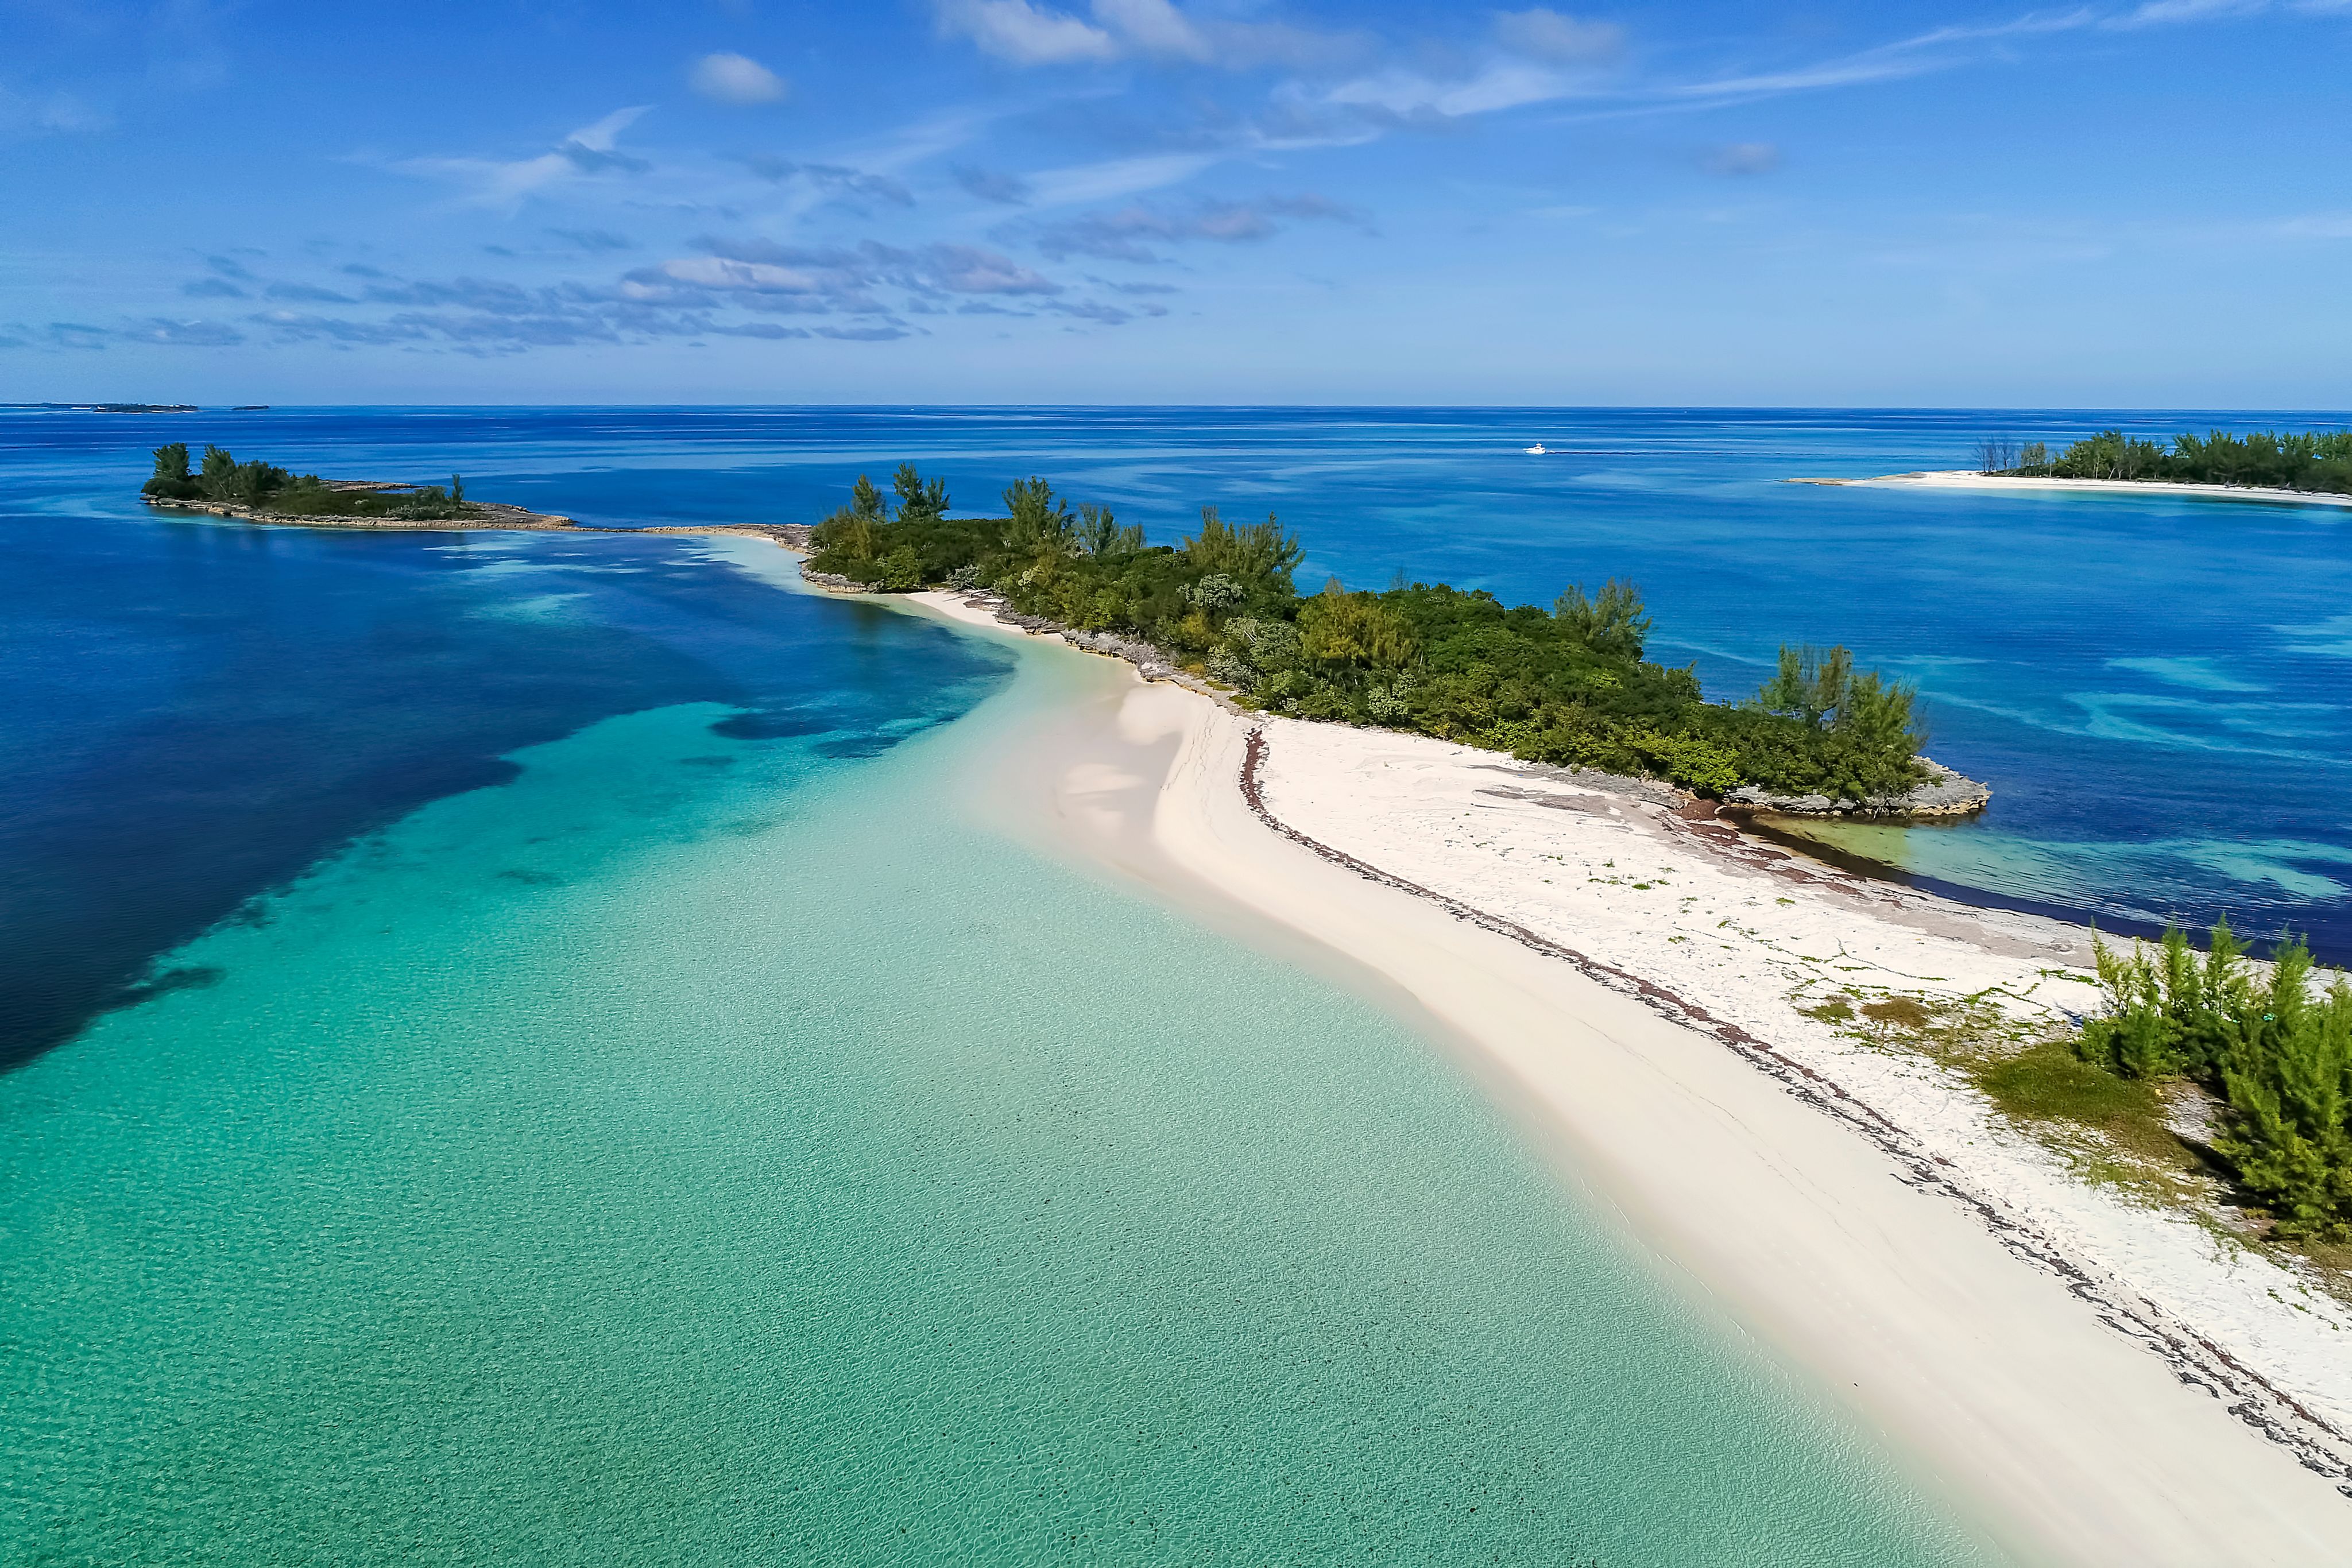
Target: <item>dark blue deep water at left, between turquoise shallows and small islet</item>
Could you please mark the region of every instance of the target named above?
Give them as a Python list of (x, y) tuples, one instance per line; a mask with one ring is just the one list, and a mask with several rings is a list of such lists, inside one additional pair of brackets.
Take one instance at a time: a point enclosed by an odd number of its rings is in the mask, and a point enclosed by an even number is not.
[(1002, 672), (689, 538), (0, 522), (0, 1070), (216, 980), (165, 954), (527, 745), (722, 703), (729, 741), (873, 757)]

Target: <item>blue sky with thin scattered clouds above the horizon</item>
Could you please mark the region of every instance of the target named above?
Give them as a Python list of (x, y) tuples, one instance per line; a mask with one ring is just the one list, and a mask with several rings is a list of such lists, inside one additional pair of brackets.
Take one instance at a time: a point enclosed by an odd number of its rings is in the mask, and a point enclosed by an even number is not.
[(2352, 0), (0, 21), (5, 400), (2352, 404)]

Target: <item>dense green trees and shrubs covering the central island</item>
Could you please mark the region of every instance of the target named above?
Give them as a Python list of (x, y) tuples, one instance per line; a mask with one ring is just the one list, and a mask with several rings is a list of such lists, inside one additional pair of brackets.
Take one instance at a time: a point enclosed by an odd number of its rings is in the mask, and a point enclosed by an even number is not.
[(983, 585), (1014, 609), (1143, 639), (1244, 703), (1383, 724), (1531, 762), (1653, 773), (1703, 795), (1738, 785), (1844, 799), (1900, 795), (1926, 773), (1910, 686), (1856, 675), (1844, 649), (1783, 649), (1748, 703), (1708, 703), (1691, 670), (1642, 658), (1649, 616), (1630, 583), (1571, 585), (1552, 609), (1484, 590), (1392, 583), (1301, 597), (1296, 538), (1268, 517), (1145, 545), (1110, 508), (1073, 508), (1044, 480), (1004, 491), (1004, 517), (948, 517), (915, 465), (896, 510), (863, 475), (811, 536), (811, 569), (903, 592)]

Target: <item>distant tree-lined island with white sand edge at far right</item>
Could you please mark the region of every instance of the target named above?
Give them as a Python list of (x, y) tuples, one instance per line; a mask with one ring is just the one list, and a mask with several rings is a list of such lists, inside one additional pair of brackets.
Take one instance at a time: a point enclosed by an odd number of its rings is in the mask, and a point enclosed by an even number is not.
[(1870, 480), (1790, 480), (1792, 484), (1940, 484), (1962, 489), (2122, 489), (2164, 484), (2218, 501), (2291, 501), (2352, 505), (2352, 430), (2256, 430), (2176, 435), (2152, 442), (2100, 430), (2051, 456), (2046, 442), (2018, 447), (1987, 437), (1976, 468), (1947, 468)]

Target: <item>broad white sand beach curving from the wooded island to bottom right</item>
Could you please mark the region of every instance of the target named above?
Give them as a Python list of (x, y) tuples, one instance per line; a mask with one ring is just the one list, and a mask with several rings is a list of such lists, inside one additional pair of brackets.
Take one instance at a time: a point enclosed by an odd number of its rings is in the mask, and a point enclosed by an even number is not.
[[(2321, 1474), (2352, 1460), (2352, 1314), (2084, 1185), (1931, 1063), (1792, 1001), (1893, 978), (2079, 1009), (2084, 933), (1486, 752), (1101, 670), (1098, 698), (1007, 748), (1009, 820), (1449, 1039), (1670, 1279), (1886, 1432), (2009, 1552), (2352, 1556), (2347, 1481)], [(1616, 875), (1635, 870), (1646, 889)]]

